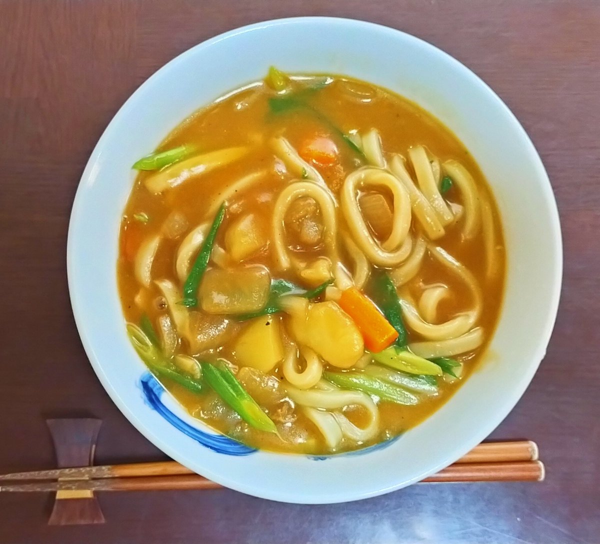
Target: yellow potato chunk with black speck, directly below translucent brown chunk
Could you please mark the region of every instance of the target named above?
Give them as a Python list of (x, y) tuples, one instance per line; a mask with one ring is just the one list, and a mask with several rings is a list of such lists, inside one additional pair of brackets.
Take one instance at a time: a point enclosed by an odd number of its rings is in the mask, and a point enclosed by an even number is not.
[(271, 371), (283, 359), (280, 317), (261, 315), (251, 320), (238, 336), (234, 351), (240, 366)]

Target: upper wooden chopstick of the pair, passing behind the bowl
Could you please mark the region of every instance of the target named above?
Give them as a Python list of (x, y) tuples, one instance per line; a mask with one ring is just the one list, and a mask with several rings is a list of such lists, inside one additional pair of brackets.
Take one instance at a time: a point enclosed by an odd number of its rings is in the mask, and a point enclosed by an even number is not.
[[(537, 461), (538, 446), (530, 440), (483, 442), (475, 446), (455, 464)], [(54, 468), (32, 472), (16, 472), (0, 476), (0, 480), (103, 479), (145, 476), (182, 476), (194, 471), (176, 461), (103, 465), (98, 467)]]

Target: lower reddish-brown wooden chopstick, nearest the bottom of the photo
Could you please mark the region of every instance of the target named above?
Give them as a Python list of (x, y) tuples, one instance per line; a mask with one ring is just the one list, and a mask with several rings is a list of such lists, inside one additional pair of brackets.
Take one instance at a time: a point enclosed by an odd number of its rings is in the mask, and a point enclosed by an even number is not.
[[(541, 482), (544, 479), (541, 461), (506, 463), (459, 463), (450, 465), (423, 482)], [(198, 474), (184, 476), (137, 476), (74, 480), (60, 482), (17, 483), (0, 486), (2, 491), (161, 491), (185, 489), (219, 489), (218, 483)]]

